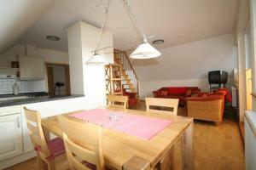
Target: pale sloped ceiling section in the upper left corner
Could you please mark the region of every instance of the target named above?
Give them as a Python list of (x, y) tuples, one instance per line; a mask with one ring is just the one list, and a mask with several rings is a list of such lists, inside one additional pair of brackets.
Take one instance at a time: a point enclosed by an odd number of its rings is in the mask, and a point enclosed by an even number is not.
[(52, 0), (0, 1), (0, 54), (38, 20)]

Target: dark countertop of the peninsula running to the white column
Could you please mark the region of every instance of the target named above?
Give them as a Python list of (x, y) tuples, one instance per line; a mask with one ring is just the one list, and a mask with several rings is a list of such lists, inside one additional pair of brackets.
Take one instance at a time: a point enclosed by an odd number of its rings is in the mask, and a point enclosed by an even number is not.
[[(15, 97), (15, 96), (16, 95), (5, 95), (4, 97)], [(20, 94), (20, 96), (22, 95)], [(26, 96), (26, 95), (23, 94), (23, 96)], [(72, 99), (72, 98), (79, 98), (79, 97), (84, 97), (84, 95), (82, 94), (57, 95), (57, 96), (33, 95), (32, 97), (30, 98), (28, 97), (26, 99), (8, 99), (8, 100), (0, 101), (0, 107), (11, 106), (11, 105), (25, 105), (25, 104), (44, 102), (44, 101), (53, 101), (58, 99)]]

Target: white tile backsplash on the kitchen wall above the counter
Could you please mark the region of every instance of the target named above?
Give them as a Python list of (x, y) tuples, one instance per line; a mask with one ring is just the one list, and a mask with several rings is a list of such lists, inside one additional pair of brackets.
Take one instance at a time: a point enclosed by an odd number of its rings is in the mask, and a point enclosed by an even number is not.
[(45, 81), (20, 81), (18, 79), (0, 79), (0, 94), (13, 94), (13, 85), (17, 83), (20, 93), (45, 92)]

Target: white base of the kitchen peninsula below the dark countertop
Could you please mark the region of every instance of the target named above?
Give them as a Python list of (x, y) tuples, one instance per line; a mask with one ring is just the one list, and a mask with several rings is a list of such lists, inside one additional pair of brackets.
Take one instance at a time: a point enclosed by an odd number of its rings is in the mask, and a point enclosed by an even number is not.
[[(40, 111), (41, 117), (45, 118), (71, 111), (91, 109), (91, 105), (88, 103), (88, 100), (80, 97), (0, 107), (0, 169), (14, 166), (37, 156), (26, 127), (24, 106)], [(20, 128), (18, 128), (18, 122), (20, 122)], [(51, 139), (54, 137), (54, 135), (50, 135)]]

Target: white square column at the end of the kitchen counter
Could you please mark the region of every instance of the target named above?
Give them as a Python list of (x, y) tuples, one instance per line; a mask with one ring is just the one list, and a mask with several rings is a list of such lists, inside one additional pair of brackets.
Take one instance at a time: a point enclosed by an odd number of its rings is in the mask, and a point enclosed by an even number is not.
[[(104, 65), (85, 65), (93, 55), (100, 29), (78, 22), (67, 30), (70, 82), (72, 94), (84, 94), (89, 105), (106, 105)], [(101, 47), (113, 45), (113, 35), (104, 32)], [(113, 48), (102, 51), (108, 63), (113, 63)]]

